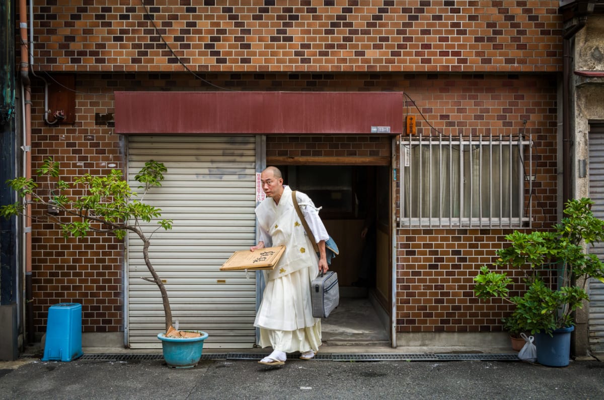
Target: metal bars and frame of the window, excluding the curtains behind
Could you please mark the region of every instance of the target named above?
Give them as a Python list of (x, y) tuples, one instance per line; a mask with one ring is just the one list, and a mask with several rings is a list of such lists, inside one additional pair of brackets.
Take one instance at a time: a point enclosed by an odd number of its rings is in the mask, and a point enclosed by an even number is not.
[[(469, 175), (470, 177), (470, 201), (471, 201), (471, 205), (469, 207), (469, 216), (465, 215), (464, 216), (464, 212), (466, 211), (464, 209), (464, 203), (463, 203), (463, 198), (464, 198), (464, 183), (463, 183), (463, 179), (458, 179), (460, 182), (458, 183), (459, 187), (457, 188), (457, 194), (453, 194), (454, 190), (452, 190), (453, 188), (453, 184), (452, 182), (454, 181), (452, 173), (454, 171), (454, 169), (449, 169), (449, 173), (451, 174), (451, 176), (449, 176), (449, 196), (450, 196), (450, 202), (452, 202), (452, 198), (451, 196), (455, 196), (456, 199), (457, 197), (459, 198), (458, 203), (458, 215), (457, 217), (450, 217), (450, 216), (443, 216), (443, 209), (442, 209), (442, 203), (443, 200), (442, 198), (440, 198), (439, 204), (437, 205), (437, 207), (439, 207), (439, 210), (437, 211), (438, 216), (434, 216), (434, 209), (432, 208), (432, 199), (435, 198), (435, 193), (432, 192), (432, 163), (431, 161), (428, 162), (429, 166), (428, 166), (428, 171), (426, 173), (428, 173), (429, 178), (428, 178), (428, 185), (429, 185), (429, 189), (428, 189), (428, 193), (430, 193), (429, 195), (429, 199), (427, 200), (429, 202), (428, 205), (428, 213), (431, 215), (428, 216), (423, 216), (422, 215), (422, 192), (426, 192), (426, 190), (422, 190), (422, 179), (420, 175), (420, 179), (419, 179), (419, 183), (414, 184), (413, 182), (411, 182), (411, 178), (410, 176), (413, 176), (414, 173), (414, 169), (417, 169), (419, 166), (419, 173), (422, 174), (423, 170), (426, 170), (426, 166), (425, 164), (421, 164), (422, 163), (422, 151), (419, 152), (420, 154), (420, 160), (414, 160), (413, 158), (413, 152), (411, 151), (411, 149), (414, 146), (432, 146), (429, 147), (429, 156), (432, 156), (432, 149), (434, 149), (434, 146), (437, 146), (437, 156), (439, 156), (439, 160), (443, 159), (443, 148), (448, 149), (449, 150), (449, 168), (452, 166), (452, 163), (458, 163), (458, 170), (460, 172), (460, 176), (463, 178), (466, 178), (467, 175)], [(454, 152), (452, 150), (454, 150), (454, 146), (457, 146), (458, 148), (455, 150), (458, 150), (458, 156), (452, 157), (450, 156), (451, 154), (453, 154)], [(503, 157), (503, 149), (505, 147), (507, 147), (509, 149), (508, 152), (508, 156), (509, 156), (509, 166), (504, 166), (504, 163), (502, 163), (500, 161), (500, 172), (498, 172), (498, 174), (500, 176), (503, 176), (503, 173), (501, 172), (501, 169), (503, 167), (508, 168), (509, 167), (509, 186), (507, 188), (504, 188), (503, 186), (501, 186), (501, 181), (502, 179), (498, 179), (498, 181), (500, 182), (500, 193), (506, 193), (506, 196), (509, 196), (509, 213), (508, 215), (501, 215), (503, 213), (503, 203), (500, 201), (500, 207), (499, 207), (499, 214), (498, 215), (494, 215), (493, 214), (493, 210), (492, 208), (492, 183), (489, 183), (489, 187), (486, 188), (487, 192), (484, 192), (483, 186), (481, 185), (481, 181), (483, 179), (482, 176), (482, 169), (479, 168), (478, 169), (478, 173), (479, 173), (479, 177), (477, 179), (478, 181), (478, 202), (480, 203), (478, 205), (479, 211), (478, 211), (478, 215), (479, 216), (472, 216), (474, 215), (473, 213), (473, 208), (472, 208), (472, 195), (476, 195), (476, 193), (474, 193), (474, 188), (473, 185), (476, 184), (476, 182), (474, 182), (474, 178), (473, 178), (473, 174), (472, 171), (469, 172), (469, 174), (466, 175), (466, 173), (464, 172), (464, 157), (461, 156), (463, 154), (464, 151), (464, 147), (472, 147), (472, 146), (478, 146), (478, 153), (480, 154), (480, 160), (477, 161), (480, 167), (480, 165), (483, 162), (483, 150), (484, 147), (487, 147), (487, 151), (489, 153), (487, 153), (487, 156), (489, 156), (489, 160), (487, 161), (487, 163), (489, 164), (489, 172), (490, 174), (493, 173), (493, 168), (492, 168), (492, 164), (493, 164), (493, 147), (498, 147), (499, 149), (499, 154), (500, 159)], [(434, 135), (434, 136), (425, 136), (422, 137), (421, 134), (419, 135), (401, 135), (399, 138), (399, 172), (400, 172), (400, 202), (399, 202), (399, 217), (397, 218), (397, 222), (398, 222), (398, 226), (399, 228), (439, 228), (439, 227), (449, 227), (449, 228), (473, 228), (473, 227), (478, 227), (478, 228), (482, 228), (482, 227), (488, 227), (488, 228), (493, 228), (493, 227), (499, 227), (499, 228), (519, 228), (519, 227), (531, 227), (531, 222), (532, 222), (532, 196), (531, 193), (533, 191), (533, 169), (532, 169), (532, 146), (533, 146), (533, 141), (531, 138), (531, 135), (506, 135), (505, 137), (503, 135), (498, 135), (498, 136), (493, 136), (493, 135), (467, 135), (467, 136), (463, 136), (463, 135), (458, 135), (455, 137), (450, 137), (450, 136), (445, 136), (442, 134), (439, 135)], [(518, 168), (518, 182), (517, 182), (517, 191), (518, 191), (518, 198), (517, 199), (513, 199), (513, 181), (515, 181), (515, 176), (513, 176), (512, 173), (512, 169), (513, 169), (513, 163), (515, 161), (513, 161), (513, 152), (518, 151), (518, 160), (516, 162), (518, 162), (518, 165), (516, 166)], [(489, 155), (490, 154), (490, 155)], [(525, 158), (527, 158), (528, 156), (528, 160), (525, 160)], [(431, 160), (431, 158), (430, 158)], [(525, 162), (528, 161), (528, 162)], [(438, 161), (439, 162), (439, 167), (440, 167), (440, 172), (439, 176), (440, 179), (442, 179), (442, 161)], [(415, 164), (414, 164), (415, 163)], [(469, 152), (469, 162), (467, 163), (468, 166), (472, 167), (474, 166), (473, 164), (473, 160), (472, 160), (472, 151)], [(526, 168), (528, 167), (528, 173)], [(408, 172), (406, 169), (409, 169)], [(492, 175), (489, 176), (489, 182), (493, 181), (493, 178), (497, 178), (496, 176), (493, 177)], [(442, 180), (440, 182), (443, 182)], [(409, 188), (409, 192), (406, 193), (406, 186), (410, 185)], [(413, 185), (416, 185), (416, 188), (414, 188)], [(417, 187), (419, 187), (419, 189), (417, 189)], [(413, 190), (420, 190), (419, 196), (417, 196), (417, 204), (411, 205), (411, 199), (414, 199), (413, 196)], [(527, 192), (528, 190), (528, 192)], [(483, 216), (483, 208), (482, 208), (482, 202), (485, 202), (486, 199), (484, 198), (484, 195), (486, 193), (486, 196), (489, 196), (488, 198), (488, 204), (489, 204), (489, 216)], [(442, 193), (439, 191), (437, 193), (437, 195), (441, 195)], [(527, 198), (528, 196), (528, 198)], [(410, 198), (410, 199), (409, 199)], [(517, 202), (517, 204), (514, 204), (514, 201)], [(525, 203), (527, 203), (527, 205), (525, 205)], [(515, 207), (515, 205), (517, 206), (518, 210), (517, 210), (517, 215), (512, 215), (513, 212), (513, 208)], [(407, 210), (407, 208), (410, 208), (410, 210)], [(417, 208), (417, 210), (416, 210)], [(528, 211), (528, 213), (527, 213)], [(408, 215), (407, 215), (408, 213)], [(416, 213), (415, 215), (413, 213)]]

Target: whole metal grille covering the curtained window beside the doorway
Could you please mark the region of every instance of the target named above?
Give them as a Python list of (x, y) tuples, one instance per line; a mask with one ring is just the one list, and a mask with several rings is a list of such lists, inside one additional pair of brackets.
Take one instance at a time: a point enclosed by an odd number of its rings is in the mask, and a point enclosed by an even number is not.
[(399, 145), (399, 227), (530, 227), (530, 135), (405, 135)]

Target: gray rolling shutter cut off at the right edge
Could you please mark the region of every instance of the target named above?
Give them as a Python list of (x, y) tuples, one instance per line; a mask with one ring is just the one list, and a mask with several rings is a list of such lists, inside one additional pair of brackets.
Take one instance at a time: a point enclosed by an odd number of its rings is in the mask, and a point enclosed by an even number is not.
[[(604, 124), (590, 129), (590, 198), (596, 203), (591, 210), (604, 219)], [(590, 253), (604, 260), (604, 244), (590, 247)], [(604, 283), (590, 279), (590, 348), (604, 352)]]

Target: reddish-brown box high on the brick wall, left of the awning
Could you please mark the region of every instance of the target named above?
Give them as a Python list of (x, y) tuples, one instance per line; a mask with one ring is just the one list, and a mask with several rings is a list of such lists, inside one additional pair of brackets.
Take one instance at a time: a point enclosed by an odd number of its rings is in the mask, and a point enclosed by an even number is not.
[[(53, 75), (48, 79), (48, 122), (76, 123), (76, 76)], [(56, 121), (56, 122), (55, 122)]]

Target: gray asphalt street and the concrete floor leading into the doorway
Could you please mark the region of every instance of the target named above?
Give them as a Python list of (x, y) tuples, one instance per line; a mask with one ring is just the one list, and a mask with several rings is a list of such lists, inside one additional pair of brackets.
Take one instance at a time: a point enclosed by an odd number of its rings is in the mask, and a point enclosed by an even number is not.
[[(367, 300), (344, 302), (323, 326), (317, 360), (269, 349), (205, 349), (198, 366), (167, 367), (161, 350), (85, 347), (79, 360), (40, 361), (43, 350), (0, 362), (2, 399), (604, 399), (604, 358), (551, 368), (505, 348), (388, 345)], [(358, 318), (350, 318), (357, 312)], [(356, 314), (355, 314), (356, 315)], [(364, 315), (364, 317), (361, 317)]]

